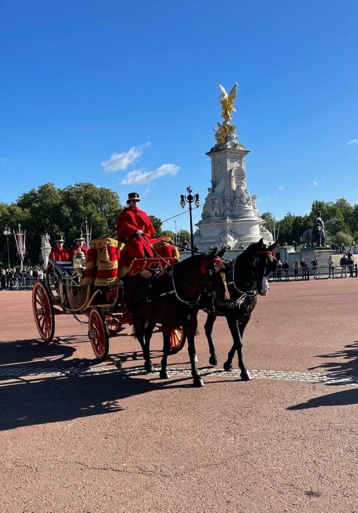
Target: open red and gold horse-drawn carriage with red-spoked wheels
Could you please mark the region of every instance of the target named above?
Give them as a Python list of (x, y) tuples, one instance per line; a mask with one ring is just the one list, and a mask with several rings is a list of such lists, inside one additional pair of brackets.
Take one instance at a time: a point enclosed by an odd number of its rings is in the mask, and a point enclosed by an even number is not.
[[(89, 340), (96, 359), (103, 361), (108, 356), (109, 338), (121, 333), (126, 324), (131, 326), (132, 316), (124, 300), (122, 281), (113, 272), (118, 262), (117, 241), (93, 241), (89, 255), (87, 262), (81, 253), (71, 262), (50, 259), (44, 282), (34, 283), (32, 307), (37, 330), (45, 343), (54, 337), (56, 315), (87, 315)], [(176, 257), (157, 254), (156, 258), (134, 259), (126, 270), (131, 277), (143, 269), (160, 271), (177, 262)], [(170, 345), (172, 351), (182, 349), (182, 326), (172, 329)]]

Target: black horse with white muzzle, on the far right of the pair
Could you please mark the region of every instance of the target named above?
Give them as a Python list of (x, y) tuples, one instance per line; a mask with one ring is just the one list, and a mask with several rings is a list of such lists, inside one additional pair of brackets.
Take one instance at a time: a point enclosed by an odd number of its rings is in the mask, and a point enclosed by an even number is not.
[(235, 351), (238, 356), (241, 379), (251, 380), (250, 372), (247, 370), (243, 360), (243, 335), (250, 320), (253, 309), (257, 302), (257, 293), (267, 295), (269, 291), (268, 276), (277, 267), (275, 254), (272, 252), (276, 243), (266, 248), (261, 239), (257, 243), (250, 244), (245, 251), (233, 261), (227, 261), (226, 275), (230, 293), (230, 302), (223, 305), (209, 307), (207, 320), (204, 325), (205, 334), (209, 344), (211, 365), (217, 365), (215, 347), (212, 341), (212, 328), (218, 315), (226, 317), (233, 346), (228, 353), (224, 369), (232, 370), (232, 359)]

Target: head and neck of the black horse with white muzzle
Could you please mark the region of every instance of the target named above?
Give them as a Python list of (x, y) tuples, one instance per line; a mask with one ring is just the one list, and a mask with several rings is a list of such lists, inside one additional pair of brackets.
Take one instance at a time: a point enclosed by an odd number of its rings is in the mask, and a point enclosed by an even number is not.
[(267, 295), (269, 291), (268, 276), (276, 270), (277, 260), (273, 252), (276, 243), (266, 247), (264, 239), (250, 244), (235, 259), (232, 278), (236, 288), (243, 292), (257, 291)]

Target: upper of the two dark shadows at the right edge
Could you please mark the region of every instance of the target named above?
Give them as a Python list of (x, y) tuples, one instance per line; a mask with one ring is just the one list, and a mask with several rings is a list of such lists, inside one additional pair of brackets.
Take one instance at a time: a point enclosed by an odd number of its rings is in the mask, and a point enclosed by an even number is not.
[[(336, 378), (345, 378), (349, 376), (358, 377), (358, 341), (344, 346), (341, 351), (334, 353), (319, 354), (315, 358), (330, 359), (329, 361), (310, 367), (308, 370), (327, 369)], [(339, 359), (340, 361), (334, 361)], [(342, 361), (342, 359), (344, 361)], [(339, 385), (339, 383), (336, 383)], [(331, 383), (331, 385), (335, 385)]]

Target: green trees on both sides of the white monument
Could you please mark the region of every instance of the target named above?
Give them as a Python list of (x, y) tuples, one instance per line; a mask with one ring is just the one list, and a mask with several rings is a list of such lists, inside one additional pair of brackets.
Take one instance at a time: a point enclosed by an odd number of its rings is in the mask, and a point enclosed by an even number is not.
[[(0, 262), (7, 264), (7, 242), (4, 235), (5, 226), (11, 229), (9, 235), (10, 262), (19, 263), (16, 258), (16, 247), (12, 230), (17, 231), (18, 224), (26, 229), (25, 263), (41, 262), (41, 235), (48, 233), (53, 243), (57, 235), (63, 235), (66, 246), (73, 245), (73, 239), (78, 233), (85, 233), (85, 222), (92, 230), (92, 239), (106, 235), (115, 235), (115, 218), (124, 207), (120, 197), (111, 189), (96, 187), (91, 183), (75, 183), (64, 188), (46, 183), (25, 192), (11, 204), (0, 203)], [(349, 244), (358, 240), (358, 205), (350, 205), (341, 198), (336, 202), (314, 201), (311, 212), (307, 215), (287, 213), (281, 220), (275, 220), (271, 212), (262, 214), (266, 226), (273, 233), (274, 227), (280, 227), (278, 240), (281, 244), (293, 241), (299, 243), (302, 233), (312, 228), (314, 216), (321, 210), (325, 222), (326, 243)], [(190, 233), (180, 230), (176, 234), (162, 230), (162, 220), (149, 215), (156, 236), (170, 236), (180, 245), (190, 241)]]

